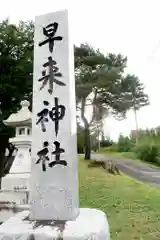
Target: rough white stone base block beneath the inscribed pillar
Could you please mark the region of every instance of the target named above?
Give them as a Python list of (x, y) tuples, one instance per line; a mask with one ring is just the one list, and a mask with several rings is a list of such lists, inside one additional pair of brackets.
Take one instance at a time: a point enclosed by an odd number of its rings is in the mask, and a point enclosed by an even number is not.
[(109, 240), (109, 225), (105, 214), (97, 209), (81, 208), (75, 221), (30, 221), (29, 211), (23, 211), (0, 226), (0, 240)]

